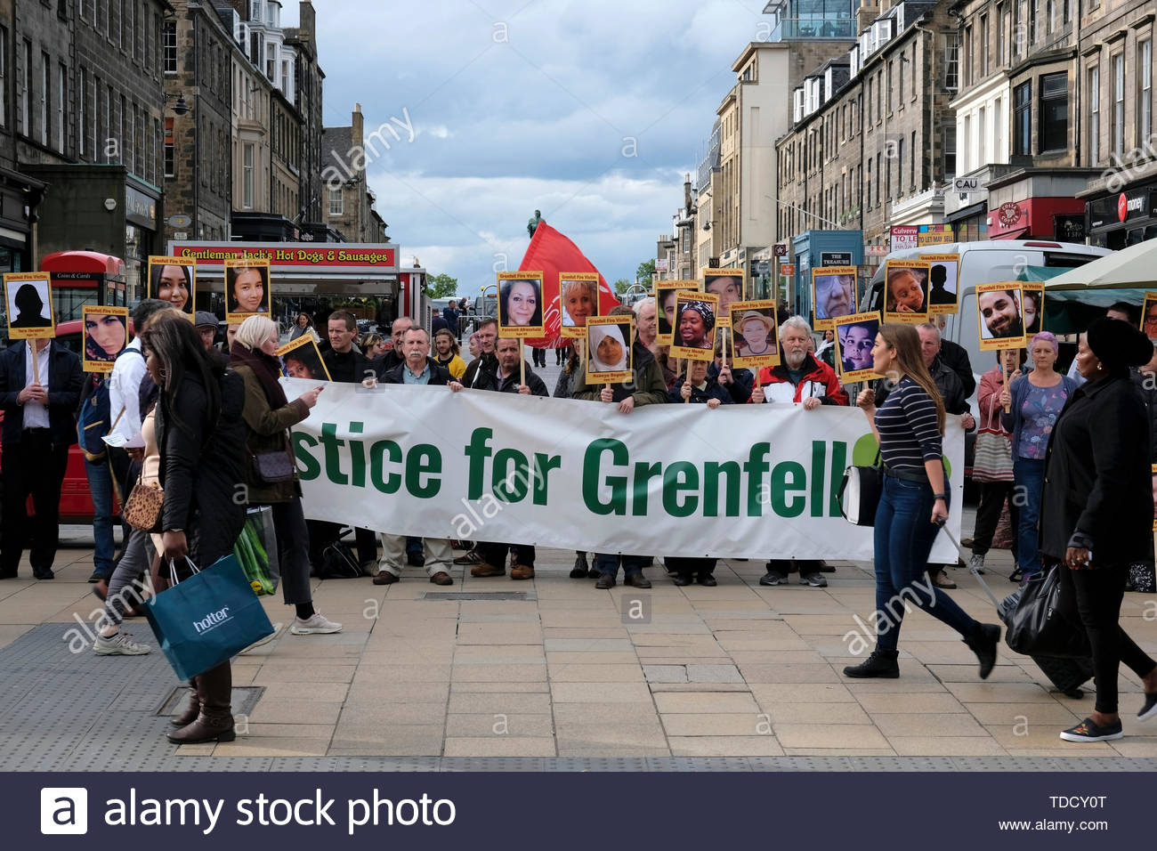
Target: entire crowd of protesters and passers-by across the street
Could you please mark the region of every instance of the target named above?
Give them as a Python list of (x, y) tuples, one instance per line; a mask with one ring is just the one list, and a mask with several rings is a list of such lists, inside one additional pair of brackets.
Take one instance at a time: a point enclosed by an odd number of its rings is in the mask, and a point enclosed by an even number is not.
[[(727, 281), (721, 286), (725, 289)], [(817, 354), (816, 337), (801, 316), (789, 316), (779, 329), (780, 365), (754, 373), (729, 362), (721, 333), (706, 337), (712, 360), (672, 359), (658, 343), (657, 308), (656, 300), (647, 298), (633, 308), (610, 311), (634, 321), (634, 338), (616, 340), (620, 349), (631, 349), (629, 361), (625, 351), (616, 358), (624, 367), (629, 362), (629, 381), (589, 382), (578, 351), (568, 345), (559, 350), (562, 368), (553, 395), (613, 405), (620, 416), (670, 403), (700, 404), (709, 411), (767, 403), (795, 404), (804, 411), (860, 406), (879, 441), (884, 465), (875, 523), (877, 645), (863, 663), (849, 666), (845, 674), (900, 675), (904, 607), (890, 602), (907, 594), (961, 636), (977, 654), (980, 676), (987, 677), (996, 661), (1000, 628), (973, 619), (945, 594), (956, 587), (946, 568), (956, 565), (928, 564), (951, 492), (942, 453), (945, 416), (959, 415), (966, 430), (978, 426), (967, 403), (975, 389), (967, 352), (942, 339), (933, 323), (880, 325), (868, 355), (857, 350), (856, 358), (886, 377), (854, 393), (857, 388), (841, 386), (830, 362), (831, 340), (825, 339)], [(1027, 581), (1044, 570), (1061, 571), (1060, 609), (1086, 632), (1097, 681), (1095, 712), (1062, 734), (1071, 741), (1121, 734), (1117, 706), (1121, 662), (1143, 678), (1140, 717), (1157, 716), (1157, 663), (1118, 625), (1127, 584), (1137, 575), (1137, 565), (1148, 565), (1151, 575), (1154, 559), (1149, 464), (1157, 461), (1152, 440), (1157, 350), (1137, 330), (1134, 310), (1118, 305), (1091, 323), (1081, 336), (1076, 374), (1056, 372), (1057, 340), (1040, 332), (1030, 340), (1026, 361), (1016, 350), (997, 352), (997, 365), (981, 377), (978, 395), (981, 428), (1008, 435), (1008, 475), (982, 482), (972, 565), (983, 567), (1007, 502), (1016, 526), (1014, 579)], [(124, 628), (125, 619), (139, 611), (142, 588), (148, 582), (154, 588), (164, 585), (169, 575), (164, 565), (182, 579), (190, 574), (190, 565), (209, 565), (228, 555), (246, 509), (259, 507), (273, 513), (281, 594), (294, 609), (289, 632), (339, 632), (341, 624), (314, 606), (310, 577), (325, 575), (334, 548), (345, 546), (342, 527), (305, 519), (295, 470), (288, 477), (266, 478), (264, 467), (253, 463), (258, 456), (281, 454), (292, 462), (290, 428), (309, 417), (324, 386), (287, 399), (275, 354), (279, 331), (265, 316), (230, 325), (220, 346), (214, 343), (214, 316), (198, 311), (190, 322), (171, 300), (142, 301), (131, 318), (135, 336), (110, 352), (116, 359), (106, 376), (86, 376), (80, 359), (56, 340), (20, 342), (0, 353), (5, 410), (0, 578), (16, 575), (29, 541), (34, 575), (53, 577), (60, 484), (68, 448), (76, 442), (78, 411), (104, 399), (106, 450), (90, 453), (86, 446), (97, 514), (90, 581), (105, 600), (96, 654), (150, 652)], [(494, 318), (474, 323), (467, 338), (469, 362), (455, 332), (457, 316), (439, 318), (433, 339), (430, 331), (399, 317), (385, 340), (378, 333), (359, 337), (356, 318), (347, 311), (329, 314), (322, 358), (331, 380), (427, 384), (447, 393), (469, 388), (548, 395), (543, 379), (522, 362), (519, 342), (501, 337)], [(672, 330), (678, 336), (678, 329)], [(312, 317), (304, 313), (290, 337), (302, 335), (318, 337)], [(102, 345), (111, 350), (112, 336)], [(1104, 430), (1105, 424), (1118, 431), (1118, 441), (1098, 436), (1098, 425)], [(236, 499), (238, 482), (245, 484), (244, 500)], [(117, 555), (113, 497), (123, 502), (134, 486), (163, 489), (161, 516), (150, 530), (126, 527)], [(1074, 493), (1081, 498), (1075, 500)], [(35, 506), (31, 520), (24, 507), (29, 496)], [(476, 578), (506, 575), (508, 570), (514, 580), (535, 577), (532, 544), (477, 542), (454, 558), (455, 543), (355, 529), (352, 558), (359, 572), (373, 574), (375, 585), (398, 582), (405, 564), (423, 566), (429, 581), (439, 586), (454, 584), (454, 565), (469, 567)], [(651, 587), (644, 575), (654, 563), (650, 556), (597, 552), (597, 542), (591, 543), (591, 551), (575, 553), (572, 578), (595, 579), (596, 588), (606, 589), (617, 584), (621, 568), (625, 585)], [(459, 546), (466, 549), (460, 542)], [(775, 553), (759, 584), (783, 585), (797, 572), (802, 585), (827, 585), (823, 573), (832, 570), (828, 565), (790, 555)], [(664, 567), (676, 586), (717, 584), (715, 559), (668, 557)], [(231, 739), (230, 682), (229, 662), (196, 677), (190, 703), (174, 719), (176, 729), (169, 738), (183, 743)]]

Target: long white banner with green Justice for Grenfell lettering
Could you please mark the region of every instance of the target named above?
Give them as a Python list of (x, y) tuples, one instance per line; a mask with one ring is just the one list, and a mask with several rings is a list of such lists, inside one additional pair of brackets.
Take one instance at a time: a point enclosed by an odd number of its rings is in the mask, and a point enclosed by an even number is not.
[[(316, 381), (282, 379), (286, 394)], [(858, 409), (618, 405), (326, 384), (294, 427), (305, 516), (425, 537), (721, 558), (871, 560), (835, 494), (876, 441)], [(949, 417), (959, 538), (964, 431)], [(933, 562), (956, 562), (945, 535)]]

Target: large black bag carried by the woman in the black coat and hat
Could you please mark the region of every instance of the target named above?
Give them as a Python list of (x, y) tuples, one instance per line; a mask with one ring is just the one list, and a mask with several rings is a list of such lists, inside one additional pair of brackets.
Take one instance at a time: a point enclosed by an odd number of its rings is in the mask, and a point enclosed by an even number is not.
[(1089, 636), (1079, 624), (1061, 616), (1061, 568), (1031, 577), (1001, 606), (1004, 640), (1017, 653), (1032, 656), (1081, 659), (1092, 654)]

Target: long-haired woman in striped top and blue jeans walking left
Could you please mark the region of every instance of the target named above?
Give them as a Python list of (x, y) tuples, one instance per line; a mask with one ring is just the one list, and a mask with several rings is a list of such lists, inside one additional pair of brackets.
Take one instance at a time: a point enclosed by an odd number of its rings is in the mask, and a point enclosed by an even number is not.
[(868, 416), (884, 460), (884, 493), (876, 509), (876, 650), (852, 677), (898, 677), (900, 624), (905, 604), (919, 607), (964, 637), (980, 660), (980, 678), (996, 663), (1001, 629), (973, 621), (927, 578), (928, 556), (948, 520), (942, 436), (944, 402), (924, 366), (912, 325), (880, 325), (871, 350), (872, 368), (894, 387), (877, 410), (864, 390), (856, 404)]

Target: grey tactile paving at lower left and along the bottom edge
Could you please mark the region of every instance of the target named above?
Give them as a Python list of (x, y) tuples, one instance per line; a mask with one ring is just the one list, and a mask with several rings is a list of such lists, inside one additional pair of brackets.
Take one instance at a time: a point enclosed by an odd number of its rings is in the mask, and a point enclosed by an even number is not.
[(72, 653), (69, 629), (40, 624), (0, 650), (0, 771), (1157, 771), (1125, 757), (177, 756), (156, 714), (179, 687), (164, 656)]

